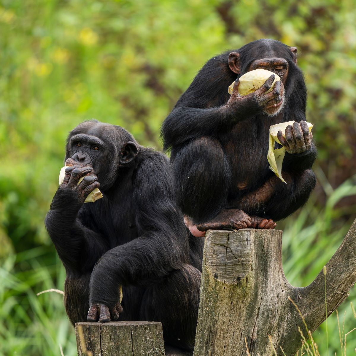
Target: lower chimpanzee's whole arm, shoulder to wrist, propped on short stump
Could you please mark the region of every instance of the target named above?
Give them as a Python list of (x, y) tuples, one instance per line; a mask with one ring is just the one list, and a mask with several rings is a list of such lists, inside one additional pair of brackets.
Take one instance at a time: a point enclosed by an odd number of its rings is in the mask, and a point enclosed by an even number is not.
[(91, 274), (92, 306), (114, 308), (120, 284), (142, 286), (161, 281), (188, 261), (188, 242), (184, 241), (188, 232), (174, 203), (168, 159), (151, 152), (137, 168), (135, 188), (132, 199), (141, 236), (100, 258)]

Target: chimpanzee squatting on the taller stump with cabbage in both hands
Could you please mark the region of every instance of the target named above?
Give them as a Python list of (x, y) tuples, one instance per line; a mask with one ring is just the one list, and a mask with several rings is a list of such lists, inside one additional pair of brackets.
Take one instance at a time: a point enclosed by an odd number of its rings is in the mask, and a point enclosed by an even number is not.
[[(162, 125), (164, 149), (171, 150), (177, 202), (195, 236), (205, 230), (243, 227), (273, 229), (302, 206), (315, 187), (316, 149), (305, 123), (307, 90), (297, 67), (297, 48), (262, 39), (211, 58), (179, 98)], [(263, 68), (271, 75), (255, 92), (232, 95), (237, 77)], [(266, 94), (265, 94), (266, 93)], [(268, 169), (269, 126), (286, 129), (282, 171), (287, 184)], [(280, 146), (282, 147), (282, 146)]]

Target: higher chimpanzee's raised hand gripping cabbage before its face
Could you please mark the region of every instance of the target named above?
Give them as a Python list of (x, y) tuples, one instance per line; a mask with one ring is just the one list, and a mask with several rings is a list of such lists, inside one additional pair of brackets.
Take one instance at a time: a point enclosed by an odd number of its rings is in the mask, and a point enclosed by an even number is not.
[(239, 79), (236, 79), (231, 97), (226, 105), (246, 105), (250, 108), (252, 106), (263, 110), (270, 106), (281, 103), (284, 90), (283, 83), (281, 81), (276, 82), (274, 84), (273, 90), (265, 94), (266, 91), (271, 88), (274, 78), (275, 75), (271, 75), (271, 77), (266, 80), (261, 88), (247, 95), (239, 94), (240, 81)]

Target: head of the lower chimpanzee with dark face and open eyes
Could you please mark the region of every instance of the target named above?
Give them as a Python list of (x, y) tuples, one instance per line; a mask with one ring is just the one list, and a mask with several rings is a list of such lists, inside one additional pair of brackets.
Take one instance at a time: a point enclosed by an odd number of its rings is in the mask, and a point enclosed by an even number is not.
[(139, 145), (121, 126), (97, 120), (84, 121), (67, 138), (66, 166), (90, 166), (98, 177), (100, 190), (112, 186), (119, 171), (135, 161)]

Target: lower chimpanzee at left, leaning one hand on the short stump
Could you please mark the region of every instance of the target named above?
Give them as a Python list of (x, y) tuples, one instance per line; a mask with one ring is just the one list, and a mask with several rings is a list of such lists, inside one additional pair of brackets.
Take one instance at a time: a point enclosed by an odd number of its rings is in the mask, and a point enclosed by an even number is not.
[[(65, 159), (45, 224), (66, 268), (70, 321), (161, 321), (166, 343), (192, 350), (203, 241), (189, 239), (168, 158), (91, 120), (69, 133)], [(99, 182), (103, 198), (83, 204)]]

